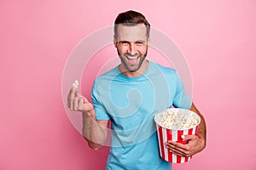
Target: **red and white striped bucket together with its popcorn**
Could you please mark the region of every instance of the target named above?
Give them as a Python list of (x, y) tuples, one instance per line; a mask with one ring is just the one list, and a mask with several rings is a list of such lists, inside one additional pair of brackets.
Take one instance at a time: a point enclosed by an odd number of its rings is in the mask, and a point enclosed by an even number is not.
[(189, 161), (192, 156), (176, 156), (166, 148), (165, 143), (172, 140), (177, 143), (186, 144), (187, 141), (183, 141), (181, 136), (197, 133), (198, 125), (201, 122), (200, 116), (194, 111), (171, 108), (156, 114), (154, 116), (154, 122), (156, 125), (160, 156), (164, 160), (172, 163), (184, 163)]

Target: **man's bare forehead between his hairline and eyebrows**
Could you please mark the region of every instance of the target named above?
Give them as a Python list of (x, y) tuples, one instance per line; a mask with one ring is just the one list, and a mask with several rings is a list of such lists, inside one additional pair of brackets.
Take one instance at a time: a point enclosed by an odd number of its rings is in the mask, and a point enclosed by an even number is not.
[(147, 40), (147, 28), (144, 24), (136, 26), (119, 25), (117, 29), (118, 41), (138, 41)]

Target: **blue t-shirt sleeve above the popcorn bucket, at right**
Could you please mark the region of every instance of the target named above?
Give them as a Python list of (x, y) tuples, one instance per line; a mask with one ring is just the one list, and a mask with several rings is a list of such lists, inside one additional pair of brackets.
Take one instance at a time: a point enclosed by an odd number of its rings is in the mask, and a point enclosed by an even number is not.
[(178, 108), (189, 109), (192, 105), (192, 99), (187, 94), (182, 79), (177, 75), (175, 71), (177, 81), (176, 81), (176, 93), (173, 99), (173, 105)]

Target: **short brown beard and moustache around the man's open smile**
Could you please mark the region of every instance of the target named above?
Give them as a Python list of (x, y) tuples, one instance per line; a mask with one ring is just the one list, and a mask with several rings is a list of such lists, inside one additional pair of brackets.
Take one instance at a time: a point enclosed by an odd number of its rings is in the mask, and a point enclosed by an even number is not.
[[(119, 54), (119, 50), (117, 51)], [(148, 48), (144, 55), (142, 54), (131, 55), (129, 53), (126, 53), (124, 55), (119, 54), (119, 58), (121, 59), (121, 63), (125, 65), (125, 69), (127, 71), (136, 72), (143, 65), (143, 60), (146, 58), (147, 54), (148, 54)]]

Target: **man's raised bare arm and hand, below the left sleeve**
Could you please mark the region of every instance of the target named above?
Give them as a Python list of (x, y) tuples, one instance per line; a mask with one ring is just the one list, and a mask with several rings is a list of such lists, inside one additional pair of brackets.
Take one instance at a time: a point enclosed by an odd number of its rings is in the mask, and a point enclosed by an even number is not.
[(67, 107), (71, 111), (83, 114), (83, 136), (93, 150), (98, 150), (105, 144), (108, 135), (108, 120), (96, 121), (93, 105), (79, 93), (78, 88), (72, 88), (67, 96)]

